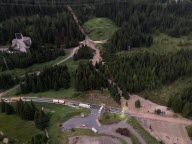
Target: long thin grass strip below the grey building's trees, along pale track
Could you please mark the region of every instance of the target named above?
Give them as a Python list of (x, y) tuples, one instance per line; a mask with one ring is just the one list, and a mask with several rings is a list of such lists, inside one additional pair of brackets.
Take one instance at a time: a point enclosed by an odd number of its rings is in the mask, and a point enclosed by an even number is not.
[(43, 68), (45, 67), (49, 67), (49, 66), (52, 66), (52, 65), (55, 65), (57, 64), (58, 62), (62, 61), (63, 59), (65, 59), (66, 57), (68, 57), (69, 53), (71, 52), (71, 49), (66, 49), (65, 50), (65, 56), (59, 56), (58, 58), (56, 58), (55, 60), (51, 60), (49, 62), (45, 62), (45, 63), (40, 63), (40, 64), (34, 64), (32, 66), (29, 66), (28, 68), (24, 68), (24, 69), (21, 69), (21, 68), (16, 68), (16, 69), (13, 69), (13, 70), (10, 70), (10, 71), (4, 71), (4, 72), (1, 72), (1, 73), (12, 73), (16, 76), (24, 76), (25, 73), (31, 73), (31, 72), (35, 72), (35, 71), (41, 71)]

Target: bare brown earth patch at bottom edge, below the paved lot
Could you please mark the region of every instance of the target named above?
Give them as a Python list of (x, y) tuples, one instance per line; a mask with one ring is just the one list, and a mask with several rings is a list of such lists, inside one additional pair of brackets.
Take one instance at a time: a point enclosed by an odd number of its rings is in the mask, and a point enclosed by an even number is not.
[(75, 136), (69, 138), (69, 144), (120, 144), (120, 141), (109, 136)]

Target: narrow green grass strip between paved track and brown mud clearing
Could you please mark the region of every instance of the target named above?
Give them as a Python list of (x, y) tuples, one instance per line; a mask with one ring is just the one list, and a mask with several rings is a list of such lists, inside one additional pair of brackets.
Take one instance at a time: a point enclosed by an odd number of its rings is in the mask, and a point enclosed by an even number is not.
[(158, 140), (156, 140), (154, 137), (152, 137), (149, 132), (147, 132), (139, 123), (135, 118), (130, 118), (128, 121), (128, 124), (130, 124), (131, 126), (133, 126), (134, 129), (137, 130), (138, 133), (140, 133), (140, 135), (145, 139), (145, 141), (148, 144), (160, 144), (160, 142)]

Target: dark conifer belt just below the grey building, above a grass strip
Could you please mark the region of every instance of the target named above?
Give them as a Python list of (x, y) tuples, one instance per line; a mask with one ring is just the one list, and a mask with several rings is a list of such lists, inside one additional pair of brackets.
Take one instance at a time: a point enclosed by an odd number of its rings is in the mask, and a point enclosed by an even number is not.
[(65, 51), (53, 45), (33, 44), (29, 53), (0, 52), (0, 69), (27, 68), (35, 63), (44, 63), (64, 56)]

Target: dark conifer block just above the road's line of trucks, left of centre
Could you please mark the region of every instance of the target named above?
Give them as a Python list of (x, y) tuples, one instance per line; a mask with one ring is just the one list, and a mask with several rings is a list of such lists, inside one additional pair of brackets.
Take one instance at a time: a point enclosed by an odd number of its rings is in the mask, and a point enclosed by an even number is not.
[(70, 86), (70, 74), (67, 66), (54, 66), (44, 69), (39, 74), (26, 74), (21, 92), (43, 92), (50, 89), (67, 89)]

